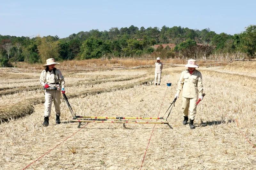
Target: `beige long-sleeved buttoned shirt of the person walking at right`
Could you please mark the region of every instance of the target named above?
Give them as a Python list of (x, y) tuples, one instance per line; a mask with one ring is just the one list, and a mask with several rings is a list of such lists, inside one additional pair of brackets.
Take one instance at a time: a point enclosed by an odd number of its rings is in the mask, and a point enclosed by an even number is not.
[(178, 82), (177, 93), (180, 93), (182, 88), (182, 97), (197, 98), (198, 96), (203, 96), (204, 89), (200, 71), (195, 69), (191, 75), (188, 70), (182, 71)]

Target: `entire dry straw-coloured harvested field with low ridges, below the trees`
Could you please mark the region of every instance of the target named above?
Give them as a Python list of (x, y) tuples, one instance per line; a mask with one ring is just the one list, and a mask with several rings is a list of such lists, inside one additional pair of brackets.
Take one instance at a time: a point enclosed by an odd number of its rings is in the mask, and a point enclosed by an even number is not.
[[(42, 127), (40, 74), (4, 73), (0, 169), (23, 169), (37, 159), (27, 169), (256, 169), (256, 64), (248, 64), (198, 69), (206, 96), (197, 107), (196, 129), (182, 125), (181, 96), (169, 126), (82, 123), (77, 128), (62, 100), (62, 123), (55, 124), (53, 106), (50, 125)], [(76, 115), (161, 117), (174, 98), (182, 70), (164, 67), (160, 86), (141, 85), (154, 79), (154, 68), (63, 75)]]

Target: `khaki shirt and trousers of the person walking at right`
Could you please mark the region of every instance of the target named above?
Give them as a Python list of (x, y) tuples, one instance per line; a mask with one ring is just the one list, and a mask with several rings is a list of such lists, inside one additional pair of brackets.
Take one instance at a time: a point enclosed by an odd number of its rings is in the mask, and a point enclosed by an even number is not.
[(182, 89), (182, 112), (183, 116), (188, 116), (189, 119), (194, 120), (196, 115), (196, 101), (198, 96), (203, 96), (202, 74), (196, 69), (190, 75), (189, 70), (181, 72), (178, 82), (177, 93)]

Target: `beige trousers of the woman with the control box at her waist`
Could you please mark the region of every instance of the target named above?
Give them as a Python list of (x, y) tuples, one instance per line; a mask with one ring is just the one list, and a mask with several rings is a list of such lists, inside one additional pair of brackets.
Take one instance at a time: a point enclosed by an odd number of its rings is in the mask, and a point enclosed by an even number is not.
[(46, 90), (45, 91), (45, 102), (44, 102), (44, 116), (51, 116), (52, 101), (55, 107), (55, 113), (60, 115), (60, 91), (58, 90)]

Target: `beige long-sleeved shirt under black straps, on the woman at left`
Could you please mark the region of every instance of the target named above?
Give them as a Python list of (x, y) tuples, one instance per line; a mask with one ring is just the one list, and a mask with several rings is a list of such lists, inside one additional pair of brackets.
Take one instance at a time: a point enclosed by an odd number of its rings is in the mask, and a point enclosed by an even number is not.
[[(64, 77), (61, 74), (61, 71), (56, 69), (55, 72), (56, 72), (56, 78), (57, 78), (56, 83), (59, 83), (61, 85), (61, 88), (64, 88), (65, 81), (64, 81)], [(45, 75), (46, 75), (46, 78), (45, 78)], [(54, 80), (53, 70), (51, 72), (47, 71), (47, 73), (45, 70), (42, 71), (41, 76), (40, 76), (40, 84), (42, 86), (44, 86), (45, 84), (54, 86), (55, 80)]]

